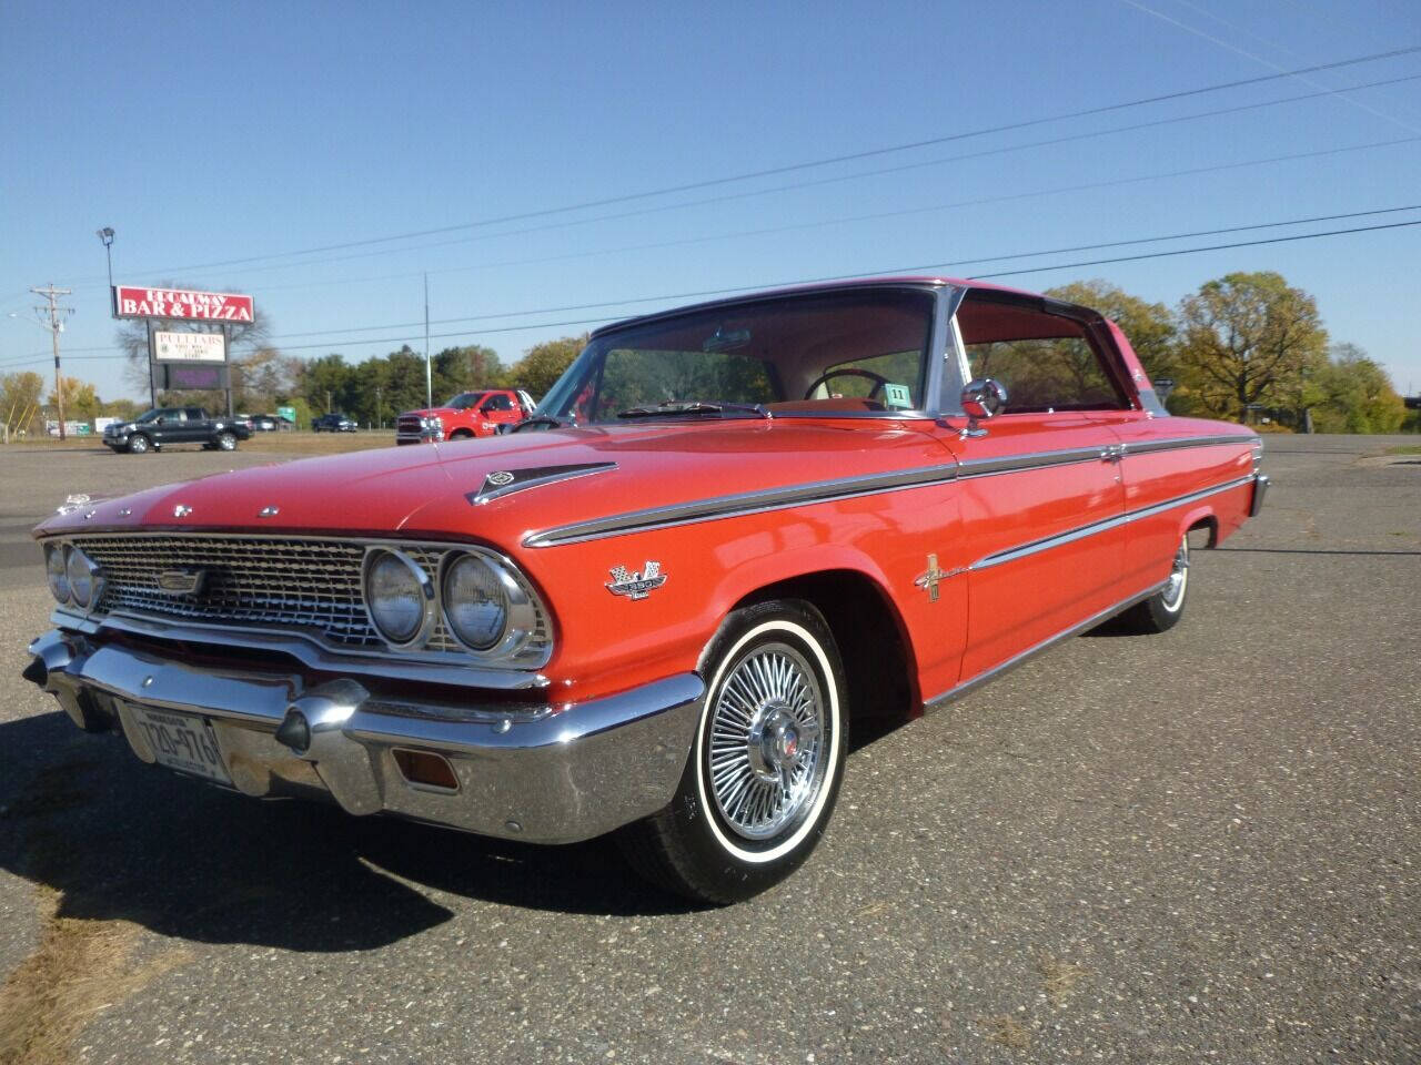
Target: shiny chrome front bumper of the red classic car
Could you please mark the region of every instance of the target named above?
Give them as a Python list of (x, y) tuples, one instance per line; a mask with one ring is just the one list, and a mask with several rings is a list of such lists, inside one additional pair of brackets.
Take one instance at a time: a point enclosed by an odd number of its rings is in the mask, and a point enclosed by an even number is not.
[[(348, 814), (539, 843), (590, 839), (665, 807), (705, 690), (685, 673), (568, 707), (507, 710), (377, 697), (350, 677), (307, 686), (300, 673), (186, 665), (64, 630), (30, 653), (26, 677), (77, 726), (121, 731), (146, 763), (156, 755), (135, 704), (206, 719), (243, 794), (328, 797)], [(310, 736), (300, 753), (277, 738), (293, 716)], [(443, 755), (458, 788), (406, 781), (396, 750)]]

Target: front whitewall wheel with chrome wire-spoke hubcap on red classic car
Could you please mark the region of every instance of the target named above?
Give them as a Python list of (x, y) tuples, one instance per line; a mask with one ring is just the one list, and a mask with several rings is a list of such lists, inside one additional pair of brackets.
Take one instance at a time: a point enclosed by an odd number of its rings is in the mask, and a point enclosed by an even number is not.
[(844, 775), (847, 687), (828, 625), (797, 599), (732, 613), (705, 662), (676, 795), (620, 842), (664, 888), (723, 905), (783, 880), (823, 836)]

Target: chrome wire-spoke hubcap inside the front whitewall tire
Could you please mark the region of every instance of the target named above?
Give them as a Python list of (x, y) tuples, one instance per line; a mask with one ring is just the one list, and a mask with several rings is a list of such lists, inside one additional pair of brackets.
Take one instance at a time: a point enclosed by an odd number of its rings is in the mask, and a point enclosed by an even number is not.
[(710, 720), (710, 792), (746, 839), (782, 832), (824, 785), (824, 696), (809, 663), (766, 645), (730, 672)]

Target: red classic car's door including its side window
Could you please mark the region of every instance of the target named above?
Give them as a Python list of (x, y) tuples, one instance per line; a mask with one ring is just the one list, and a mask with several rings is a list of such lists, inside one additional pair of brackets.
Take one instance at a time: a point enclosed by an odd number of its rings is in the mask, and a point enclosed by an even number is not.
[(965, 432), (961, 462), (971, 680), (1108, 611), (1124, 598), (1124, 487), (1114, 426), (1133, 403), (1113, 354), (1037, 297), (973, 290), (958, 308), (963, 378), (992, 378), (1002, 412)]

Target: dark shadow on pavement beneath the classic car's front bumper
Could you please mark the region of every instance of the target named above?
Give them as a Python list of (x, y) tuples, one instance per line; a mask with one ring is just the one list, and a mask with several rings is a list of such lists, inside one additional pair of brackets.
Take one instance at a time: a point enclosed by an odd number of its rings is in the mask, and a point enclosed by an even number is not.
[(607, 841), (546, 848), (263, 802), (144, 765), (61, 713), (0, 724), (0, 868), (60, 893), (61, 917), (301, 951), (441, 924), (453, 916), (441, 892), (577, 913), (689, 907)]

